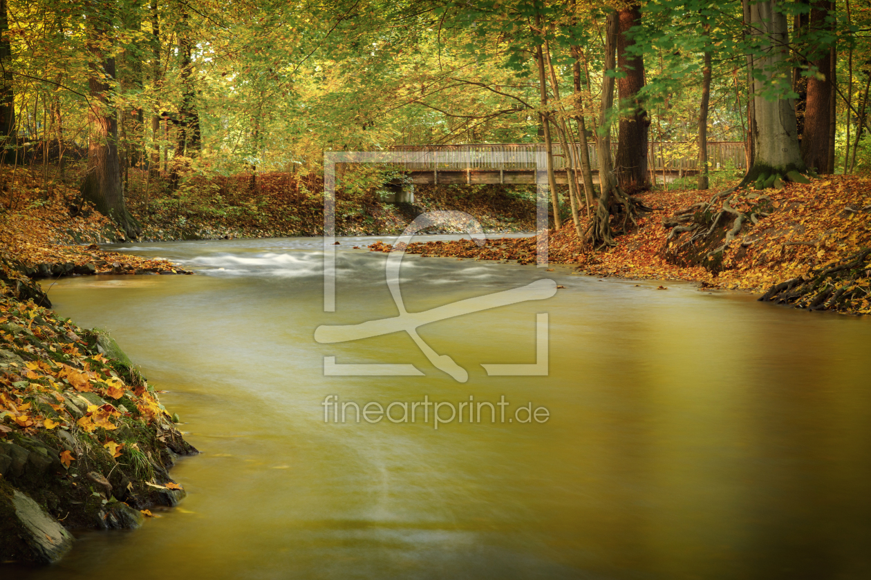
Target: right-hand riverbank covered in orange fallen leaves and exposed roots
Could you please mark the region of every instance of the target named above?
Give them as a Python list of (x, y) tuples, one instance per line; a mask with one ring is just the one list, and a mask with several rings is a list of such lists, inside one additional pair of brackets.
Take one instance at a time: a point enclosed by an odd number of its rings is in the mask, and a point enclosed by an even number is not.
[[(736, 190), (722, 196), (658, 190), (643, 199), (654, 210), (638, 219), (637, 228), (617, 237), (614, 247), (586, 246), (571, 221), (551, 231), (550, 263), (576, 265), (595, 277), (683, 280), (752, 291), (800, 308), (871, 314), (868, 177), (826, 177), (780, 190)], [(583, 217), (580, 229), (588, 223)], [(697, 228), (710, 234), (686, 235)], [(392, 248), (376, 243), (370, 250)], [(406, 251), (531, 264), (535, 239), (491, 239), (483, 247), (470, 240), (410, 243)]]

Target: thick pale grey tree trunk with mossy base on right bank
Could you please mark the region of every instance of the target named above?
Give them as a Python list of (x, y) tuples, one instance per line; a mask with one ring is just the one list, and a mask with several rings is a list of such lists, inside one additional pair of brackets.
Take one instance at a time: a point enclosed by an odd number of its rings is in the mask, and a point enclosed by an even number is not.
[[(753, 149), (755, 158), (742, 183), (755, 181), (762, 174), (804, 170), (799, 150), (795, 108), (792, 99), (768, 100), (764, 91), (788, 83), (783, 65), (789, 57), (787, 17), (780, 11), (781, 0), (750, 0), (751, 36), (754, 44), (766, 46), (763, 56), (753, 59)], [(788, 85), (787, 85), (788, 86)]]

